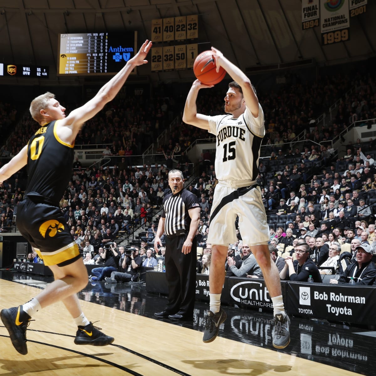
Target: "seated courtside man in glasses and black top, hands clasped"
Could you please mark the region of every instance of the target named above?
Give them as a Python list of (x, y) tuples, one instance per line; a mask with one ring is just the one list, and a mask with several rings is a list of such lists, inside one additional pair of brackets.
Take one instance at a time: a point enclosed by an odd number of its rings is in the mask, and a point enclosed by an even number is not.
[(313, 260), (309, 257), (309, 246), (307, 243), (298, 243), (295, 247), (296, 260), (291, 256), (285, 258), (285, 266), (280, 271), (280, 279), (287, 279), (295, 282), (308, 282), (312, 276), (314, 282), (322, 283), (320, 272)]

